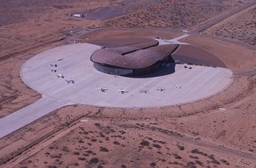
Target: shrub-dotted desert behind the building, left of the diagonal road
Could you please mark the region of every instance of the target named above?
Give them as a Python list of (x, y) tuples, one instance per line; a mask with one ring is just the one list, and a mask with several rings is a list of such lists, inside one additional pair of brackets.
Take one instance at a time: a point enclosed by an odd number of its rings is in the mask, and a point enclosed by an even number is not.
[(248, 1), (123, 1), (120, 6), (127, 6), (131, 14), (110, 19), (102, 26), (118, 27), (170, 27), (174, 30), (191, 30), (194, 26), (208, 22), (218, 15), (242, 6)]

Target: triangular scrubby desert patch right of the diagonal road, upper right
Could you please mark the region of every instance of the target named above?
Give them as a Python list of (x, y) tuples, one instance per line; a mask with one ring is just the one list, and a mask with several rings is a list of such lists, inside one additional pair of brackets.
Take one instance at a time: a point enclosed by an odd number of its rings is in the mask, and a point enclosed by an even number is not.
[(246, 42), (256, 46), (256, 6), (218, 23), (204, 34), (233, 42)]

